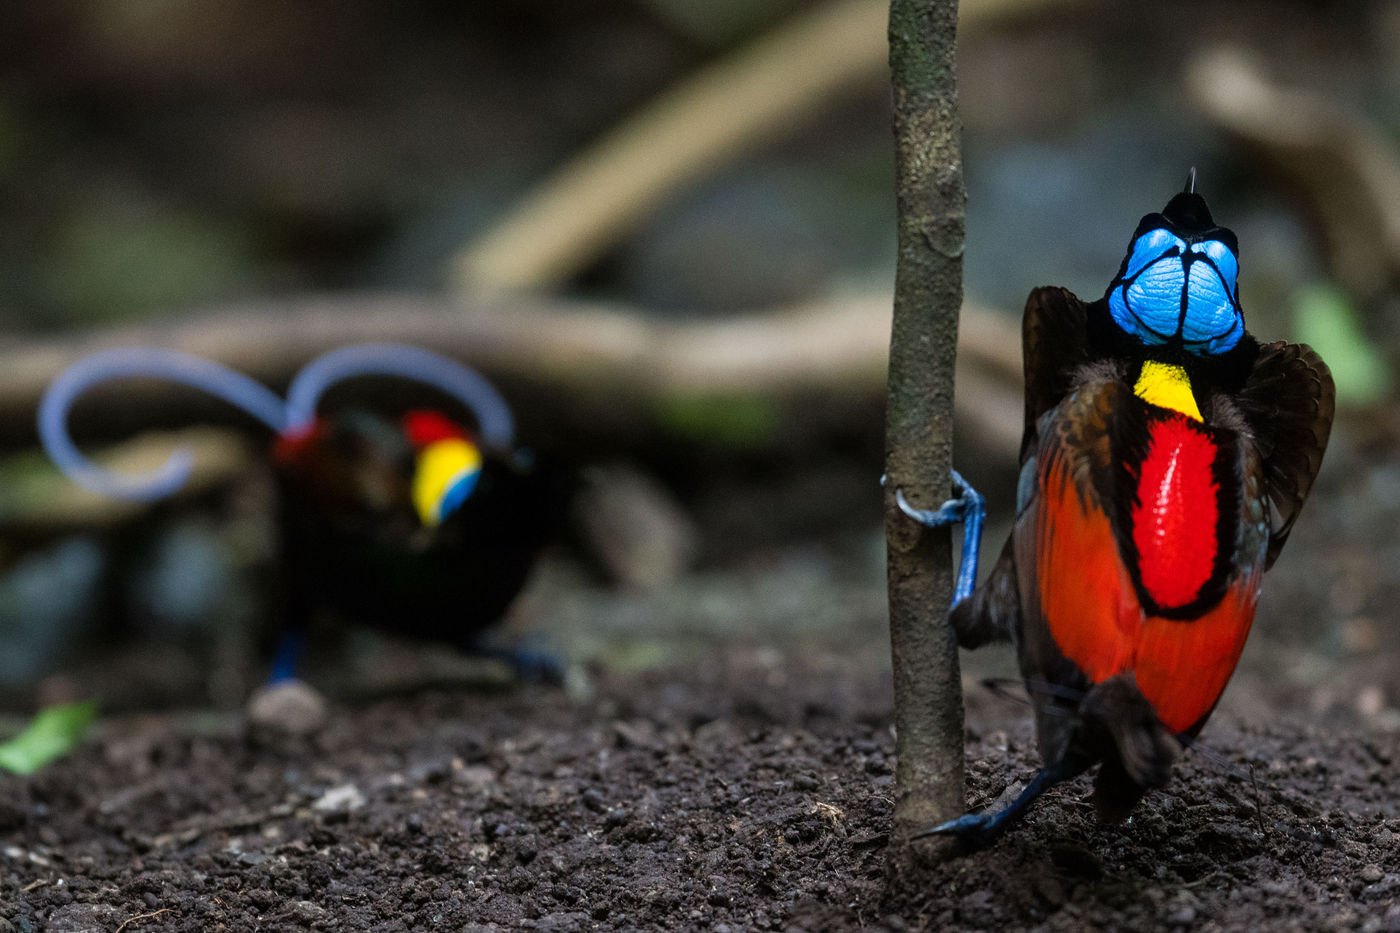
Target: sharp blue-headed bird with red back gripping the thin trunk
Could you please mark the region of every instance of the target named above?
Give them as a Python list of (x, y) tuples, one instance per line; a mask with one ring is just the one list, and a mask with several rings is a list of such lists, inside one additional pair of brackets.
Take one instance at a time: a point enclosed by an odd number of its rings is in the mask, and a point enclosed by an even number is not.
[[(1026, 301), (1015, 527), (970, 594), (965, 535), (951, 621), (963, 647), (1015, 643), (1043, 768), (1007, 808), (918, 835), (990, 842), (1093, 765), (1099, 817), (1126, 818), (1215, 709), (1312, 489), (1331, 374), (1310, 347), (1245, 329), (1236, 237), (1194, 182), (1142, 217), (1102, 298)], [(941, 510), (900, 507), (980, 523), (956, 482)]]

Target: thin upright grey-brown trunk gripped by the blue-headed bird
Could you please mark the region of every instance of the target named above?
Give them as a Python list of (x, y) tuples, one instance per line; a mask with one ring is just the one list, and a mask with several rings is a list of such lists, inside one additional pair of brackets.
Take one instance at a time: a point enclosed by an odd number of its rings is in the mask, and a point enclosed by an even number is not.
[(952, 548), (895, 506), (949, 496), (953, 360), (962, 305), (966, 193), (953, 73), (958, 0), (892, 0), (899, 265), (889, 349), (885, 530), (895, 661), (892, 867), (907, 836), (963, 811), (963, 700), (948, 625)]

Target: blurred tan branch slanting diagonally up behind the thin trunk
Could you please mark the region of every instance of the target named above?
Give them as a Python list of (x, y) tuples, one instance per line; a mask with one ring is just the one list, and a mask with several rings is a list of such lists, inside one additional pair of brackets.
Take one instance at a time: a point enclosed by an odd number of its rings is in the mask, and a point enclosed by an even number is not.
[[(966, 34), (1075, 0), (969, 0)], [(668, 198), (878, 87), (886, 0), (834, 0), (664, 92), (529, 192), (452, 263), (466, 293), (547, 290), (602, 256)]]

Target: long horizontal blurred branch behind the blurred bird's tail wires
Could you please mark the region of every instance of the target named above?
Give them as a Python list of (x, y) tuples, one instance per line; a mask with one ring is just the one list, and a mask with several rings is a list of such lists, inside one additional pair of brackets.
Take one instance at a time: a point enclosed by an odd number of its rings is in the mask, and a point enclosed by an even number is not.
[[(963, 311), (963, 353), (974, 391), (959, 416), (1015, 451), (1021, 360), (1016, 326), (991, 311)], [(78, 359), (112, 346), (162, 346), (218, 360), (283, 387), (311, 357), (346, 343), (400, 340), (480, 368), (512, 389), (547, 396), (547, 415), (575, 437), (636, 434), (658, 399), (760, 395), (791, 399), (811, 430), (883, 396), (890, 310), (886, 296), (850, 298), (715, 321), (661, 321), (638, 311), (550, 298), (452, 303), (414, 296), (322, 296), (230, 307), (168, 324), (85, 336), (0, 343), (0, 445), (35, 443), (34, 413), (48, 384)], [(144, 382), (98, 387), (80, 402), (94, 430), (136, 409), (154, 423), (188, 410), (193, 389)], [(804, 402), (806, 399), (806, 402)], [(840, 406), (832, 401), (846, 402)], [(519, 402), (517, 402), (519, 405)], [(127, 420), (130, 420), (127, 417)], [(830, 422), (827, 422), (830, 423)], [(127, 429), (129, 430), (129, 429)]]

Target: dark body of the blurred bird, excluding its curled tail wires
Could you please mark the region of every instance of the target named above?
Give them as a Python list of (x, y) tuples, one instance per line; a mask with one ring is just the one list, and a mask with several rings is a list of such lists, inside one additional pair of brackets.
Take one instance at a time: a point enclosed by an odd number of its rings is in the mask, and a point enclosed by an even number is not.
[[(318, 609), (497, 656), (528, 679), (559, 663), (482, 635), (524, 588), (564, 513), (566, 486), (528, 458), (483, 450), (440, 412), (350, 410), (279, 437), (283, 591), (295, 633)], [(277, 677), (293, 674), (279, 657)]]

